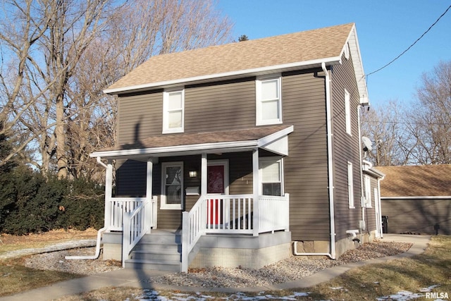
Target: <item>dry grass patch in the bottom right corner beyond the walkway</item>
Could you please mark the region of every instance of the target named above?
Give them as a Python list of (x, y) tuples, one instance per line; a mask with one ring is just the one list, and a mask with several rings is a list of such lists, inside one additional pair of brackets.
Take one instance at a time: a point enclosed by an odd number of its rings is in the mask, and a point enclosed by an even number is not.
[(451, 295), (450, 250), (451, 237), (435, 236), (424, 254), (352, 269), (309, 288), (311, 299), (299, 300), (376, 300), (401, 290), (420, 293), (421, 288), (432, 285), (438, 285), (433, 292)]

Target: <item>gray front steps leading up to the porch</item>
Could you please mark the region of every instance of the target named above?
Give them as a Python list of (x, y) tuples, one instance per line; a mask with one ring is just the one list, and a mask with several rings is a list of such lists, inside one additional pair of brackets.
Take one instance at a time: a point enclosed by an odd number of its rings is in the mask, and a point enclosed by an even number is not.
[(125, 260), (125, 268), (180, 271), (182, 242), (178, 231), (152, 230)]

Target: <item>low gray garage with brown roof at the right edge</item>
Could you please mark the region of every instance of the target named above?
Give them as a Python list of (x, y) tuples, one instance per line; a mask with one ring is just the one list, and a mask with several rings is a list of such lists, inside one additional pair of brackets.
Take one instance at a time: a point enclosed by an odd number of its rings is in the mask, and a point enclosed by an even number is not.
[(378, 166), (388, 233), (451, 234), (451, 165)]

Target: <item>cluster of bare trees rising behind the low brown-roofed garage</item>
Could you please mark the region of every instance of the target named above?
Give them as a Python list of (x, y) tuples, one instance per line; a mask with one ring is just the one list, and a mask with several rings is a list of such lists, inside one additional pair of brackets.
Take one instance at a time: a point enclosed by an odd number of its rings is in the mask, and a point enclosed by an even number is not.
[(424, 73), (416, 101), (390, 102), (362, 115), (362, 133), (376, 142), (379, 166), (451, 164), (451, 61)]

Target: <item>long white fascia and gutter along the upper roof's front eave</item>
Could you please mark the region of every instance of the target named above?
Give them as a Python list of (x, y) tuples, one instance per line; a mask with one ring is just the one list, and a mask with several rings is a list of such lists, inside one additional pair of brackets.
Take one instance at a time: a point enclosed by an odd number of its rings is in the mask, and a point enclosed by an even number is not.
[(149, 90), (156, 87), (171, 87), (173, 85), (183, 85), (187, 83), (192, 82), (202, 82), (204, 80), (213, 80), (218, 78), (233, 78), (235, 76), (240, 75), (258, 75), (258, 74), (264, 74), (268, 72), (277, 72), (277, 71), (283, 71), (283, 70), (292, 70), (297, 67), (303, 67), (303, 66), (321, 66), (321, 63), (327, 63), (328, 65), (338, 64), (340, 63), (340, 56), (330, 57), (326, 59), (316, 59), (311, 61), (300, 61), (295, 63), (285, 63), (280, 65), (274, 65), (274, 66), (265, 66), (265, 67), (259, 67), (259, 68), (251, 68), (251, 69), (245, 69), (245, 70), (237, 70), (237, 71), (230, 71), (225, 73), (216, 73), (216, 74), (209, 74), (209, 75), (200, 75), (195, 76), (192, 78), (180, 78), (177, 80), (166, 80), (163, 82), (150, 82), (148, 84), (143, 85), (134, 85), (134, 86), (128, 86), (128, 87), (121, 87), (121, 88), (113, 88), (113, 89), (106, 89), (104, 90), (105, 94), (118, 94), (119, 92), (132, 92), (137, 90)]

